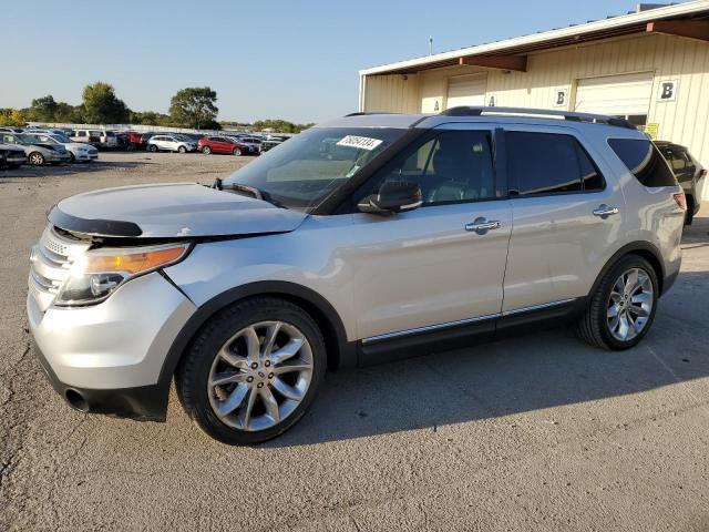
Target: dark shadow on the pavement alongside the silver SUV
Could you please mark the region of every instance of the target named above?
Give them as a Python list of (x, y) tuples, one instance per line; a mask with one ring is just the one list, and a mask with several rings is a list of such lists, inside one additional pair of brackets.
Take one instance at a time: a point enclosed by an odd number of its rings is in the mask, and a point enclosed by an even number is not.
[[(707, 245), (709, 223), (688, 247)], [(310, 412), (266, 448), (499, 418), (639, 393), (709, 376), (709, 270), (684, 272), (637, 347), (593, 348), (567, 328), (327, 376)]]

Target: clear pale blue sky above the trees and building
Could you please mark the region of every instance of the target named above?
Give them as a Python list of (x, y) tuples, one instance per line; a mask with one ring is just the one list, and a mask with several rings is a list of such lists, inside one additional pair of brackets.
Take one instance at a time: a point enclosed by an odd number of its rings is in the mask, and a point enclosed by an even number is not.
[(75, 105), (84, 85), (105, 81), (129, 108), (166, 113), (179, 89), (209, 85), (218, 120), (319, 122), (357, 111), (360, 69), (427, 55), (429, 37), (442, 52), (623, 14), (636, 3), (8, 1), (0, 108), (47, 94)]

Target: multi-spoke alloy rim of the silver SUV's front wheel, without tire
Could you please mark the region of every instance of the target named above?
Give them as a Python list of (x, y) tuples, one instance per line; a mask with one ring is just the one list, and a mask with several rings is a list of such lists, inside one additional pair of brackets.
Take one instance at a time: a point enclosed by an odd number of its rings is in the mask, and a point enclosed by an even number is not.
[(314, 358), (305, 334), (285, 321), (260, 321), (232, 336), (207, 379), (212, 410), (228, 427), (258, 431), (290, 416), (306, 397)]

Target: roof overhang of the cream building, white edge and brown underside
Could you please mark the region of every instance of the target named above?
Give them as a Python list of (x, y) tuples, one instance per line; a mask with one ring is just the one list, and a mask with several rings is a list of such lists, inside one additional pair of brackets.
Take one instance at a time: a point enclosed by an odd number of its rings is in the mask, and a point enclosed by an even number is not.
[(696, 0), (373, 66), (360, 70), (359, 73), (360, 75), (412, 74), (459, 64), (525, 71), (526, 55), (531, 52), (648, 32), (707, 40), (709, 39), (706, 37), (707, 24), (709, 24), (709, 0)]

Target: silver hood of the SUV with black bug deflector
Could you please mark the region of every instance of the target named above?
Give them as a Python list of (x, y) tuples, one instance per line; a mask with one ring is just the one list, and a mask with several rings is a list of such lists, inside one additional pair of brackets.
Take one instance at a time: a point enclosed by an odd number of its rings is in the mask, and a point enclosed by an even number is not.
[(196, 183), (123, 186), (68, 197), (49, 221), (74, 233), (175, 238), (286, 233), (306, 213)]

